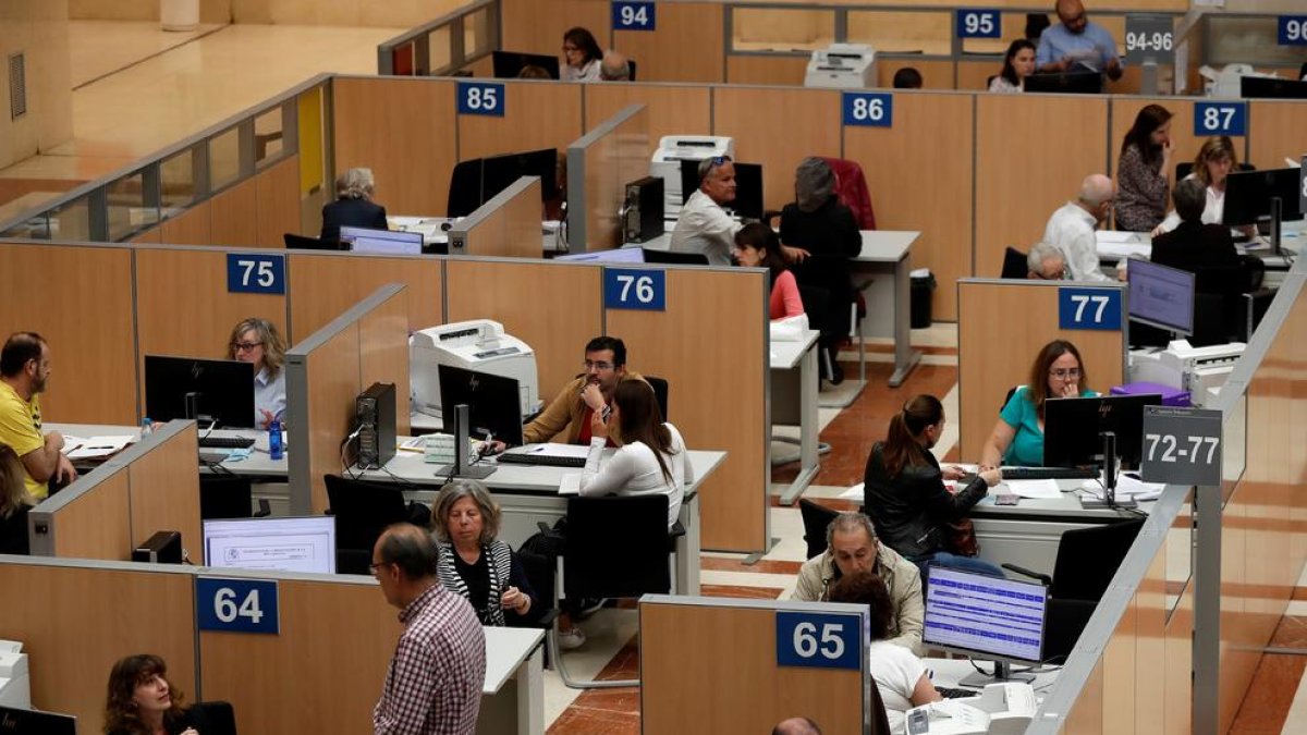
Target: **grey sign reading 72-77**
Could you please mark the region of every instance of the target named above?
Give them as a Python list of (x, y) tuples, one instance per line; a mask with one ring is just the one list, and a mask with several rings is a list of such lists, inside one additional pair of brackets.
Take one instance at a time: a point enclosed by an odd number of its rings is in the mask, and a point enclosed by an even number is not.
[(1171, 405), (1144, 407), (1146, 483), (1221, 484), (1221, 412)]

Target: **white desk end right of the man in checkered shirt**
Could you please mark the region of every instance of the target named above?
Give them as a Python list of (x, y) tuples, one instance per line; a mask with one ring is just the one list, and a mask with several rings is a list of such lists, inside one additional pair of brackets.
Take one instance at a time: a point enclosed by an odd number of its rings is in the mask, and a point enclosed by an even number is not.
[(544, 640), (538, 628), (482, 628), (486, 679), (481, 685), (478, 735), (541, 735), (545, 731)]

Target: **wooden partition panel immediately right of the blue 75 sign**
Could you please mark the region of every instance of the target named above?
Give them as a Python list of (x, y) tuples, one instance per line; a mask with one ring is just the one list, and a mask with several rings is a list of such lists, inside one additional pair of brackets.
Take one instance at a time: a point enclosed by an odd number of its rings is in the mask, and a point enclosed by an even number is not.
[(297, 252), (289, 260), (290, 341), (303, 340), (386, 284), (408, 286), (410, 331), (444, 323), (439, 258)]

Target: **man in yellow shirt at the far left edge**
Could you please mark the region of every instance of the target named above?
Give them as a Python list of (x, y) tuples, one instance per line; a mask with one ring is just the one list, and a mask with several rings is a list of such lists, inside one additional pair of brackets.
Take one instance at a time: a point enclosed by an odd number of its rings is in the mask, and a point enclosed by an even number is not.
[(50, 345), (35, 332), (14, 332), (0, 350), (0, 443), (22, 459), (27, 494), (42, 501), (55, 479), (77, 479), (72, 462), (63, 455), (64, 436), (41, 434), (41, 399), (50, 381)]

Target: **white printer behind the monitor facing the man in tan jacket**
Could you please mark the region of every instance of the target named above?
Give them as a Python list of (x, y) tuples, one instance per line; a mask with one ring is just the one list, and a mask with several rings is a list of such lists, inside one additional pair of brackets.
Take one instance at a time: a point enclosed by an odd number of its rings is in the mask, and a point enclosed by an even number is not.
[(409, 385), (413, 411), (440, 417), (438, 365), (452, 365), (518, 381), (523, 416), (536, 412), (540, 383), (536, 353), (531, 345), (503, 333), (503, 324), (490, 319), (440, 324), (409, 337)]

